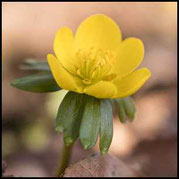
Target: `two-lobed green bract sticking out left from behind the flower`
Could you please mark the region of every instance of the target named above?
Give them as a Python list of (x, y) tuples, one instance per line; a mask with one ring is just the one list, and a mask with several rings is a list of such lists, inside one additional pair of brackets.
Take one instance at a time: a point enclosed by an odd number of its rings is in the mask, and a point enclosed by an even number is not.
[(34, 59), (27, 59), (20, 66), (20, 69), (33, 70), (37, 73), (12, 81), (10, 84), (15, 88), (36, 93), (54, 92), (61, 89), (55, 82), (45, 61), (38, 62)]

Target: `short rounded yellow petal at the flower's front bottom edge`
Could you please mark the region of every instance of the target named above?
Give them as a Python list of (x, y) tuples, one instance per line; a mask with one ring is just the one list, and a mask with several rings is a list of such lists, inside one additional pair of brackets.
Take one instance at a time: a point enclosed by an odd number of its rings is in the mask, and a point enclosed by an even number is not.
[(96, 98), (110, 98), (116, 94), (117, 88), (110, 82), (100, 81), (86, 87), (83, 92)]

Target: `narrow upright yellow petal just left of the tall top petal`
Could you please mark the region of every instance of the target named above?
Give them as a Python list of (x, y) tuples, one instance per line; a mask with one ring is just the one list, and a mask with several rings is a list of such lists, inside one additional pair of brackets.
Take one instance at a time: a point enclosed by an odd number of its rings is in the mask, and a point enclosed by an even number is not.
[(74, 35), (71, 29), (63, 27), (57, 31), (54, 51), (62, 66), (75, 73)]

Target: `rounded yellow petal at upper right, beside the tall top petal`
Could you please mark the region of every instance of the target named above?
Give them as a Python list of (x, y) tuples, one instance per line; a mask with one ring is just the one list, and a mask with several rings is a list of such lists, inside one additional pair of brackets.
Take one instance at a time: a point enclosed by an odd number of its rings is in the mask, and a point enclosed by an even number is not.
[(144, 46), (140, 39), (127, 38), (116, 49), (114, 68), (119, 77), (126, 76), (134, 71), (142, 62)]

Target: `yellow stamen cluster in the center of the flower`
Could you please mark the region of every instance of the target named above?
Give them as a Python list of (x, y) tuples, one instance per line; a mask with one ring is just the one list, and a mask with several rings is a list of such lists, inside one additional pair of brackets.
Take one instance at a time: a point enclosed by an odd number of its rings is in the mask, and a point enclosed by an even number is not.
[(100, 80), (111, 81), (116, 77), (116, 74), (111, 72), (114, 57), (110, 50), (91, 47), (87, 52), (78, 50), (76, 56), (79, 59), (76, 72), (85, 85), (91, 85)]

